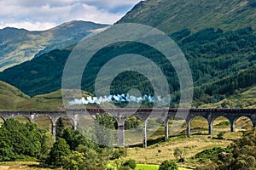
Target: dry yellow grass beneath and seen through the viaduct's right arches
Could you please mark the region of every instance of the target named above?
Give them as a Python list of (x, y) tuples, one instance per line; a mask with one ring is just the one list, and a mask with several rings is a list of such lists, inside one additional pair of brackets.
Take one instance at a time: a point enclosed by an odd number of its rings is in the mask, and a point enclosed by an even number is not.
[[(240, 118), (236, 122), (236, 127), (243, 126), (245, 128), (252, 127), (248, 118)], [(169, 122), (172, 125), (172, 122)], [(169, 126), (170, 127), (170, 126)], [(179, 164), (181, 167), (195, 168), (199, 162), (191, 161), (189, 158), (202, 150), (212, 149), (213, 147), (226, 147), (232, 143), (233, 140), (239, 139), (244, 129), (237, 129), (236, 133), (230, 133), (230, 123), (228, 119), (223, 116), (218, 117), (213, 122), (212, 138), (208, 135), (207, 120), (202, 117), (196, 117), (191, 122), (192, 135), (188, 138), (184, 135), (185, 125), (183, 125), (176, 133), (176, 136), (171, 136), (168, 141), (164, 140), (165, 128), (160, 127), (152, 136), (148, 137), (148, 148), (144, 149), (141, 144), (131, 145), (127, 149), (127, 159), (134, 159), (140, 164), (160, 164), (162, 161), (171, 160), (177, 161), (173, 156), (175, 148), (185, 150), (186, 162)], [(170, 130), (170, 129), (169, 129)], [(217, 139), (218, 133), (224, 133), (224, 139)], [(125, 138), (127, 135), (125, 133)], [(142, 136), (137, 136), (141, 139)], [(140, 143), (141, 143), (140, 142)]]

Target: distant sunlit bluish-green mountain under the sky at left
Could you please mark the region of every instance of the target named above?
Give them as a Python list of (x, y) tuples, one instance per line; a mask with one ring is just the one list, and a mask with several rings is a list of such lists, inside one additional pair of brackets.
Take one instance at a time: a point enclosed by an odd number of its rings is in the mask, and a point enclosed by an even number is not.
[(0, 30), (0, 71), (38, 57), (55, 48), (66, 48), (108, 25), (71, 21), (46, 31)]

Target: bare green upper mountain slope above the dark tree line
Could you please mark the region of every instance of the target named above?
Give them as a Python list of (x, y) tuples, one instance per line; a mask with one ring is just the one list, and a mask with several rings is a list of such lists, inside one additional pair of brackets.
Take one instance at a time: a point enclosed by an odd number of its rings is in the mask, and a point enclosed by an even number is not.
[(255, 0), (147, 0), (138, 3), (117, 23), (154, 26), (166, 33), (189, 28), (201, 31), (220, 28), (234, 31), (244, 27), (256, 29)]

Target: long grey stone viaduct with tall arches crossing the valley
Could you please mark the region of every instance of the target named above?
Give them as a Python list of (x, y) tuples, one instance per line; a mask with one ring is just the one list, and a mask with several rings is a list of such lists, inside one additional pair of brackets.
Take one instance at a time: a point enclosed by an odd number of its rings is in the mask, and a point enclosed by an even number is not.
[[(76, 130), (78, 122), (84, 113), (95, 117), (97, 113), (111, 113), (118, 122), (118, 145), (125, 146), (125, 119), (131, 115), (138, 116), (143, 120), (143, 147), (147, 147), (147, 121), (150, 116), (159, 116), (166, 113), (163, 122), (165, 123), (165, 138), (168, 139), (168, 122), (177, 115), (186, 121), (186, 133), (190, 135), (190, 123), (197, 117), (202, 116), (208, 122), (208, 133), (213, 133), (213, 122), (218, 116), (226, 117), (230, 122), (230, 132), (235, 132), (236, 120), (241, 116), (248, 117), (256, 127), (256, 109), (87, 109), (87, 110), (67, 110), (67, 111), (0, 111), (0, 117), (3, 121), (17, 116), (26, 116), (30, 122), (35, 122), (39, 116), (47, 116), (52, 123), (52, 134), (55, 136), (55, 125), (61, 116), (68, 116), (73, 122), (73, 128)], [(182, 114), (187, 113), (187, 114)]]

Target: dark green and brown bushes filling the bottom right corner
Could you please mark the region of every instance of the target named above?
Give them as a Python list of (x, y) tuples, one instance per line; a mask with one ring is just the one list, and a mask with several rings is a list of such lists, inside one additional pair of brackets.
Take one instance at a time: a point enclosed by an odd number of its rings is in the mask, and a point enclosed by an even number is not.
[[(256, 168), (256, 127), (245, 132), (241, 139), (236, 140), (227, 149), (204, 150), (195, 158), (211, 159), (209, 165), (197, 169), (255, 169)], [(217, 156), (218, 155), (218, 156)]]

